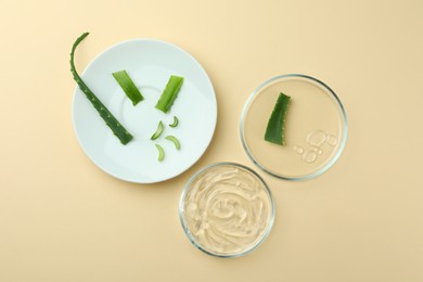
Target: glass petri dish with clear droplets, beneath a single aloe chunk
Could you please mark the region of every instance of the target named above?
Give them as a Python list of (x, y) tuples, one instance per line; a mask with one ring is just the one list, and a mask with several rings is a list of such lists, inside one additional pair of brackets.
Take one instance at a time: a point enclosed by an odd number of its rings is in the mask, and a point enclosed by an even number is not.
[[(265, 140), (280, 92), (291, 97), (284, 123), (285, 144)], [(306, 75), (273, 77), (249, 95), (241, 114), (241, 141), (264, 171), (285, 180), (320, 176), (339, 157), (347, 139), (347, 117), (335, 92)]]

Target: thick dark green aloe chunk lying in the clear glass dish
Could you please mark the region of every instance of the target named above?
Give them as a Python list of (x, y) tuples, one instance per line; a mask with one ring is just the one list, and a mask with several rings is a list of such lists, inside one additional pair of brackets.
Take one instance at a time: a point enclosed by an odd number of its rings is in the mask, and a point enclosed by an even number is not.
[(290, 105), (291, 97), (284, 93), (279, 93), (277, 103), (274, 104), (273, 112), (270, 115), (267, 124), (265, 140), (274, 144), (285, 144), (285, 117), (287, 107)]

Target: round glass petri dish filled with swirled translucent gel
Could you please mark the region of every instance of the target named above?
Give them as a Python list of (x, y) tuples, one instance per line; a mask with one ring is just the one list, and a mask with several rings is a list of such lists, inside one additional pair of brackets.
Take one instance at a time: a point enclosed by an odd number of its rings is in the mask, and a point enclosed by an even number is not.
[(251, 168), (217, 163), (187, 183), (179, 217), (191, 243), (217, 257), (248, 254), (269, 234), (274, 203), (265, 181)]

